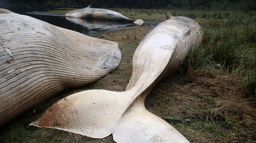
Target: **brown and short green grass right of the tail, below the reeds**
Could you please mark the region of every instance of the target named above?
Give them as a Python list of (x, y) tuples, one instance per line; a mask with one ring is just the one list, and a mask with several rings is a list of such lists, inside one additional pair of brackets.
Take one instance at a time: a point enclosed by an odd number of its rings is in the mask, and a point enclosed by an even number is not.
[[(161, 81), (146, 108), (171, 122), (191, 143), (241, 143), (256, 140), (256, 107), (237, 79), (218, 74)], [(186, 122), (190, 119), (191, 122)]]

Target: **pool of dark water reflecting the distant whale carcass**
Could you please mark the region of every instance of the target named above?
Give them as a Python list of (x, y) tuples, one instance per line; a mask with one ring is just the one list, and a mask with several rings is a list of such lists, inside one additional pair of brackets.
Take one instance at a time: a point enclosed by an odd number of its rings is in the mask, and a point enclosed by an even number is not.
[(83, 18), (68, 18), (65, 15), (49, 13), (49, 12), (24, 12), (28, 15), (49, 24), (63, 27), (69, 30), (74, 30), (88, 36), (95, 33), (102, 33), (106, 31), (120, 30), (124, 27), (136, 26), (134, 24), (121, 23), (117, 21), (102, 21), (102, 20), (86, 20)]

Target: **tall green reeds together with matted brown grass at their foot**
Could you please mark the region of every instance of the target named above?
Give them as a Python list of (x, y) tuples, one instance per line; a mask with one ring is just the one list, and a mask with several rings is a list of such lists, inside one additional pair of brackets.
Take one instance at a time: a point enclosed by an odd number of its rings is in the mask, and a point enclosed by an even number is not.
[(189, 51), (182, 63), (182, 77), (204, 84), (217, 97), (209, 115), (212, 121), (221, 116), (256, 128), (255, 33), (253, 20), (212, 20), (204, 27), (203, 44)]

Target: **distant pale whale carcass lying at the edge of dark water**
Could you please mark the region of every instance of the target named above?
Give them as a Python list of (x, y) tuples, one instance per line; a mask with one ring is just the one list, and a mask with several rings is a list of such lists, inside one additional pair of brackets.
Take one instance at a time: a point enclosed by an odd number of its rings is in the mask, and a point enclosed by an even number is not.
[(72, 18), (124, 21), (124, 22), (130, 22), (138, 25), (142, 25), (144, 23), (144, 21), (141, 19), (133, 20), (130, 18), (126, 18), (122, 14), (112, 10), (91, 8), (91, 5), (83, 9), (73, 10), (71, 12), (66, 13), (65, 15), (67, 17), (72, 17)]

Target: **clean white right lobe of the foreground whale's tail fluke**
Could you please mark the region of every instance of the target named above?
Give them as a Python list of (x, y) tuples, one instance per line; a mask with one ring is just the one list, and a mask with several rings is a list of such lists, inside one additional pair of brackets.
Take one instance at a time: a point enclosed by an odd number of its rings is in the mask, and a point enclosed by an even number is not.
[(144, 102), (136, 104), (123, 114), (113, 131), (117, 143), (189, 143), (169, 123), (149, 112)]

